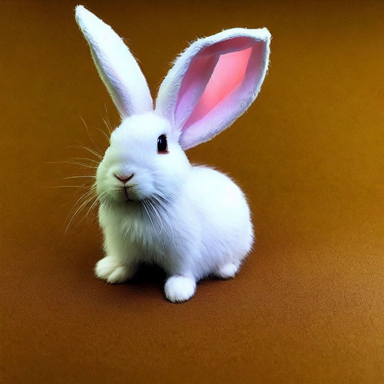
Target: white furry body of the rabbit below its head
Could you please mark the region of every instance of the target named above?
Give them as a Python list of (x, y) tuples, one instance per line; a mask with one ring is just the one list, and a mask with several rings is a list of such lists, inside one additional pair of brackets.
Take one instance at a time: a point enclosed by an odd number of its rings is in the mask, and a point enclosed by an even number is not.
[[(217, 198), (218, 189), (223, 193)], [(111, 268), (105, 274), (97, 264), (98, 277), (108, 282), (124, 281), (140, 262), (155, 263), (168, 276), (193, 282), (210, 274), (234, 276), (253, 238), (241, 190), (214, 169), (191, 166), (179, 193), (165, 207), (157, 206), (157, 213), (151, 216), (137, 203), (100, 205), (106, 252), (101, 264), (105, 268), (109, 259)], [(185, 300), (190, 293), (193, 291), (184, 292), (180, 287), (168, 292), (167, 298)]]

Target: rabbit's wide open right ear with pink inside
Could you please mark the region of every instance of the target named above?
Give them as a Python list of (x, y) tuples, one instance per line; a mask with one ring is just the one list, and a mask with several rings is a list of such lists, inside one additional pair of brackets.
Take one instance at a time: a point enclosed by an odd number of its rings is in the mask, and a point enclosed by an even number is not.
[(269, 58), (268, 29), (232, 28), (198, 39), (161, 83), (156, 112), (180, 130), (183, 149), (228, 127), (256, 98)]

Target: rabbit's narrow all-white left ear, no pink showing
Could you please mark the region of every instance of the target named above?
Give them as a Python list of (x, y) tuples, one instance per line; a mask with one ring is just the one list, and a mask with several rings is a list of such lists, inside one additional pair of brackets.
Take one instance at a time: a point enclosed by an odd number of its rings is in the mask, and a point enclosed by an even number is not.
[(98, 74), (122, 118), (153, 109), (145, 77), (128, 47), (113, 29), (82, 5), (76, 21), (90, 47)]

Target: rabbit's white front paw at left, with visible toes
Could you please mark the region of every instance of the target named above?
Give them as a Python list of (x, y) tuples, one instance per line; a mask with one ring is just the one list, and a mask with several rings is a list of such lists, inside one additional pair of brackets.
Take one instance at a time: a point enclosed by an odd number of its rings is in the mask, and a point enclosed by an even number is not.
[(95, 275), (101, 280), (105, 280), (111, 284), (118, 284), (129, 280), (136, 267), (133, 265), (123, 264), (120, 260), (112, 256), (105, 256), (98, 260), (94, 266)]

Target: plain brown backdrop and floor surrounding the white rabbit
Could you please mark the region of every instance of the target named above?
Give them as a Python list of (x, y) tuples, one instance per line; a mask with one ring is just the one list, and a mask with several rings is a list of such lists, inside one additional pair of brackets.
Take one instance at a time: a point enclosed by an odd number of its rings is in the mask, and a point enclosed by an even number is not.
[[(172, 304), (164, 276), (108, 285), (96, 222), (66, 216), (89, 174), (50, 163), (102, 148), (118, 116), (74, 2), (0, 3), (0, 289), (4, 383), (384, 382), (384, 3), (86, 1), (129, 38), (153, 92), (195, 36), (267, 26), (248, 112), (193, 161), (229, 172), (258, 242), (232, 281)], [(105, 103), (105, 106), (104, 106)], [(89, 181), (89, 180), (87, 180)]]

